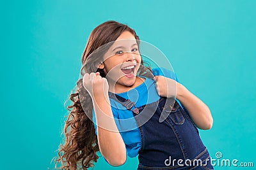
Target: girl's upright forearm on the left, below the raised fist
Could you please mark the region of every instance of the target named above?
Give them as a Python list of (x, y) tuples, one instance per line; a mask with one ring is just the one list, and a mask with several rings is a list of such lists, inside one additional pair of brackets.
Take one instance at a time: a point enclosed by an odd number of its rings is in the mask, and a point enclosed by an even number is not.
[(120, 166), (126, 160), (124, 141), (116, 127), (109, 101), (102, 98), (93, 100), (100, 153), (112, 166)]

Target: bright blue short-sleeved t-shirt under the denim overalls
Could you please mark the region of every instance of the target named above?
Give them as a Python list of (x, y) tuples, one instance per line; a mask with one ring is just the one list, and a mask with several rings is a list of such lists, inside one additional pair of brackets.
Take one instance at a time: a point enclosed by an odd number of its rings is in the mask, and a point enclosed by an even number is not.
[[(166, 78), (171, 78), (179, 82), (175, 73), (173, 71), (169, 71), (168, 69), (158, 67), (152, 69), (152, 73), (154, 76), (165, 76)], [(130, 99), (135, 103), (137, 108), (145, 104), (154, 103), (160, 98), (160, 96), (157, 94), (155, 81), (150, 78), (145, 78), (145, 81), (141, 83), (141, 85), (127, 92), (119, 93), (118, 96), (122, 96), (125, 99)], [(117, 103), (111, 98), (109, 100), (116, 126), (118, 127), (118, 131), (120, 131), (122, 139), (125, 143), (127, 155), (129, 157), (136, 157), (141, 148), (141, 138), (140, 131), (136, 124), (136, 120), (132, 115), (132, 111), (127, 110), (124, 106), (122, 106), (122, 104)], [(94, 110), (92, 115), (95, 132), (97, 134)]]

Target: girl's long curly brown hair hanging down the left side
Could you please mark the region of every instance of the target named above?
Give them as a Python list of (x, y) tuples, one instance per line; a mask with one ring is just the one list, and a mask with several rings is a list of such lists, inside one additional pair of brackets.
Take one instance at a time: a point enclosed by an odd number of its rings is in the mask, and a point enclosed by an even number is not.
[[(131, 27), (113, 20), (104, 22), (93, 29), (81, 59), (83, 66), (80, 74), (82, 76), (85, 73), (99, 71), (100, 76), (106, 77), (104, 71), (98, 68), (103, 59), (99, 56), (106, 52), (105, 48), (100, 47), (115, 41), (124, 31), (131, 32), (136, 40), (140, 40)], [(143, 60), (141, 60), (138, 74), (151, 77), (152, 74), (148, 73), (148, 70), (151, 71), (150, 67), (142, 66)], [(99, 159), (97, 155), (99, 145), (95, 127), (90, 119), (93, 110), (92, 98), (84, 89), (82, 79), (77, 81), (74, 91), (74, 93), (71, 92), (69, 97), (72, 104), (67, 107), (69, 114), (63, 129), (65, 143), (60, 144), (58, 157), (54, 160), (56, 169), (87, 169), (93, 167), (93, 163)], [(61, 166), (57, 167), (58, 164), (61, 164)]]

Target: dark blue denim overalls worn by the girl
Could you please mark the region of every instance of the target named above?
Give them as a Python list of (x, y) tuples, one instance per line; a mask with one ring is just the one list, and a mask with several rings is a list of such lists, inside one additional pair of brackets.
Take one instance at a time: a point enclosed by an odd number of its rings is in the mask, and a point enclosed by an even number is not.
[[(209, 152), (200, 139), (198, 129), (181, 103), (182, 107), (175, 100), (172, 107), (172, 104), (166, 103), (166, 97), (161, 97), (154, 103), (136, 108), (129, 99), (111, 92), (109, 97), (131, 110), (138, 124), (141, 148), (137, 170), (213, 169)], [(141, 125), (137, 115), (147, 117), (147, 113), (152, 111), (154, 115)], [(168, 114), (163, 122), (159, 122), (161, 113)]]

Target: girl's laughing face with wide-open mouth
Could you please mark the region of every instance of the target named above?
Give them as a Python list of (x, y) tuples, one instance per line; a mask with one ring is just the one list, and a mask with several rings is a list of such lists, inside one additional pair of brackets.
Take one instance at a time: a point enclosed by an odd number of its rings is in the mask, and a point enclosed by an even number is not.
[(106, 52), (99, 68), (104, 69), (109, 85), (116, 89), (134, 85), (140, 64), (141, 56), (136, 39), (131, 32), (124, 31)]

